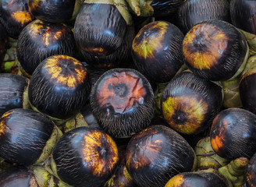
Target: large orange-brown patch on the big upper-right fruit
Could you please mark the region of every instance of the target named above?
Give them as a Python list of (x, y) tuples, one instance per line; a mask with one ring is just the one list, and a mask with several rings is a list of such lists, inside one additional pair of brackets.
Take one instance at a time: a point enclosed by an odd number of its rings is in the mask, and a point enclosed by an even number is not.
[(219, 64), (230, 39), (217, 26), (207, 23), (192, 27), (183, 40), (183, 55), (194, 69), (212, 69)]

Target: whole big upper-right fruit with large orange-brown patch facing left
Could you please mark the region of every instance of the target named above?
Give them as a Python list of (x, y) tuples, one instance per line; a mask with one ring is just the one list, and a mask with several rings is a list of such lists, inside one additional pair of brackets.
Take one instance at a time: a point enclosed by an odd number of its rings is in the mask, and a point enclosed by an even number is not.
[(187, 68), (204, 79), (225, 81), (239, 76), (248, 55), (244, 35), (222, 20), (197, 23), (183, 40)]

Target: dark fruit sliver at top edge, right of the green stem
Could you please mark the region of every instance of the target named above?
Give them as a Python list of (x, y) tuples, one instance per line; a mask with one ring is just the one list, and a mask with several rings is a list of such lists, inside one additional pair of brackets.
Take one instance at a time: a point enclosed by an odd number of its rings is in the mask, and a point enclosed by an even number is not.
[(175, 16), (185, 0), (153, 0), (151, 2), (151, 6), (154, 9), (153, 16), (155, 17), (163, 17), (163, 16)]

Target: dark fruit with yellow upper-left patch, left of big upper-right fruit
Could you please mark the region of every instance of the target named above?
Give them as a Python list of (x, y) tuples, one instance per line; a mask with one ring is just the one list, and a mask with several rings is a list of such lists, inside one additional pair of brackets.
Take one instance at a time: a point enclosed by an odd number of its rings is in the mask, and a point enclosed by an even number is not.
[(167, 83), (183, 65), (183, 33), (172, 23), (156, 21), (143, 26), (133, 39), (137, 69), (155, 83)]

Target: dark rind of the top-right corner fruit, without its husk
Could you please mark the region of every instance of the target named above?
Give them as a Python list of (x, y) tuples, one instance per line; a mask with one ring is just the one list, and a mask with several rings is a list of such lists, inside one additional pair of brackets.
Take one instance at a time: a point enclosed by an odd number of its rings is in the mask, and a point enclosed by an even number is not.
[(234, 26), (256, 34), (256, 2), (233, 0), (230, 2), (230, 16)]

